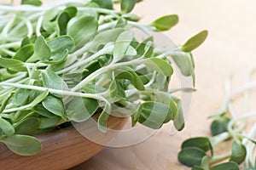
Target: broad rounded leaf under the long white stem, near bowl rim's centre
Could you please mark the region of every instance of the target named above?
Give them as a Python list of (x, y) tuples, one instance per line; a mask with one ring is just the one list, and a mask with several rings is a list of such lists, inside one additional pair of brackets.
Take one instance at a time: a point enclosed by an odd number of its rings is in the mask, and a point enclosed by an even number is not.
[(67, 105), (67, 116), (74, 122), (84, 122), (93, 116), (98, 107), (96, 99), (70, 97)]

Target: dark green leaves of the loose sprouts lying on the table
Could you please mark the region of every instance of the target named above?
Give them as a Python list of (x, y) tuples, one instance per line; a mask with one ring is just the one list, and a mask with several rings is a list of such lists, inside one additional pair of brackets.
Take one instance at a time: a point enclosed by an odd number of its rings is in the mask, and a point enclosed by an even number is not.
[[(230, 126), (232, 129), (229, 128)], [(178, 153), (178, 161), (185, 166), (192, 167), (193, 170), (239, 170), (239, 165), (246, 159), (247, 149), (242, 143), (243, 136), (239, 132), (241, 129), (237, 128), (234, 133), (230, 117), (219, 116), (211, 124), (212, 137), (197, 137), (183, 142), (182, 150)], [(221, 156), (216, 156), (214, 151), (217, 150), (217, 145), (231, 139), (230, 150)], [(249, 140), (256, 144), (253, 139)], [(224, 160), (228, 161), (223, 162)]]

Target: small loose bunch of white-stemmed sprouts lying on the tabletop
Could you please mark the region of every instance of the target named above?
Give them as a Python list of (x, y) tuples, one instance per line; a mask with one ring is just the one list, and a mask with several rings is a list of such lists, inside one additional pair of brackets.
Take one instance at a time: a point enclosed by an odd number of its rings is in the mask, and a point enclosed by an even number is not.
[[(251, 80), (255, 69), (250, 69), (246, 74), (246, 82), (243, 87), (231, 91), (230, 77), (225, 81), (225, 94), (223, 106), (220, 111), (209, 116), (214, 118), (211, 124), (212, 137), (197, 137), (187, 139), (182, 144), (182, 150), (178, 154), (178, 161), (192, 169), (226, 170), (226, 169), (255, 169), (255, 123), (247, 123), (248, 119), (255, 117), (255, 111), (249, 111), (248, 89), (255, 88), (255, 82)], [(238, 94), (243, 94), (244, 110), (237, 114), (233, 103)], [(249, 131), (247, 131), (249, 129)], [(226, 153), (217, 155), (218, 144), (226, 143)], [(201, 151), (200, 151), (201, 150)], [(211, 150), (211, 154), (208, 153)], [(193, 156), (193, 159), (192, 159)]]

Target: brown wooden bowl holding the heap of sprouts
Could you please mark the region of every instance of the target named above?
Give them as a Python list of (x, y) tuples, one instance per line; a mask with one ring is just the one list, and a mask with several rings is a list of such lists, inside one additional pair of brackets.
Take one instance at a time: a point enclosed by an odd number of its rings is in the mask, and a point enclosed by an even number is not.
[[(111, 116), (108, 127), (121, 129), (126, 118)], [(43, 150), (36, 156), (18, 156), (4, 144), (0, 144), (1, 170), (62, 170), (75, 167), (100, 152), (104, 146), (84, 138), (74, 127), (65, 127), (49, 133), (36, 135)]]

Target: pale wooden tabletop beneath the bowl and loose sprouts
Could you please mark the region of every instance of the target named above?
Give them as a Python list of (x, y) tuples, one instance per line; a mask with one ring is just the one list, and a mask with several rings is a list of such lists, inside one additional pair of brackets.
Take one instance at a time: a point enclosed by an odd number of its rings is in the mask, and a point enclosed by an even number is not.
[(234, 73), (242, 80), (248, 67), (256, 65), (256, 1), (247, 0), (147, 0), (134, 13), (144, 23), (164, 14), (178, 14), (179, 24), (166, 35), (183, 43), (207, 29), (207, 41), (195, 50), (196, 89), (186, 127), (170, 135), (168, 125), (147, 141), (131, 147), (106, 148), (73, 170), (187, 169), (177, 162), (184, 139), (209, 135), (207, 116), (218, 111), (224, 98), (224, 78)]

